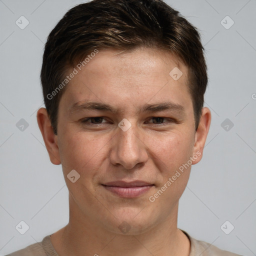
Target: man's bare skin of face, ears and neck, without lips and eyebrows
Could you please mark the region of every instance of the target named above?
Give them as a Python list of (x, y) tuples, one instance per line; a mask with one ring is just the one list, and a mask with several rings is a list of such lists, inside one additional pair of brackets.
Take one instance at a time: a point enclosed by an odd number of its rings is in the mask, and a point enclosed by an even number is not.
[[(169, 75), (174, 67), (183, 73), (178, 80)], [(211, 115), (203, 107), (195, 131), (187, 67), (155, 49), (100, 50), (66, 86), (57, 135), (45, 108), (37, 112), (50, 160), (62, 164), (69, 190), (69, 222), (50, 236), (57, 253), (188, 256), (190, 242), (177, 228), (177, 212), (191, 165), (155, 201), (148, 199), (189, 157), (200, 152), (192, 164), (202, 157)], [(74, 103), (86, 101), (106, 103), (117, 111), (70, 111)], [(183, 110), (137, 112), (145, 104), (164, 101)], [(82, 122), (96, 116), (103, 119)], [(123, 118), (131, 124), (126, 131), (117, 125)], [(72, 169), (80, 174), (74, 183), (67, 178)], [(143, 180), (153, 186), (136, 198), (122, 198), (102, 185), (114, 180)], [(126, 233), (118, 228), (123, 221), (130, 227)]]

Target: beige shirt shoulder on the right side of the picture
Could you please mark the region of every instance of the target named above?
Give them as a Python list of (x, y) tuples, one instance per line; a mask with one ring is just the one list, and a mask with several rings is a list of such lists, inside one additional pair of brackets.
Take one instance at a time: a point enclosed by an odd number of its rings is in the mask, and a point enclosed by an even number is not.
[[(183, 230), (181, 230), (183, 231)], [(220, 248), (205, 242), (197, 240), (187, 232), (183, 231), (190, 240), (190, 254), (189, 256), (242, 256), (227, 250), (221, 250)]]

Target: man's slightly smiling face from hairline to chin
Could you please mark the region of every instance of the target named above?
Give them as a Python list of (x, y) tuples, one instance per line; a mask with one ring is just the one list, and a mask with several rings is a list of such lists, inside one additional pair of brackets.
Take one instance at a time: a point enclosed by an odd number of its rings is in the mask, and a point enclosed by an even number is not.
[(70, 210), (115, 233), (170, 219), (206, 139), (195, 132), (187, 67), (169, 53), (136, 49), (99, 51), (77, 70), (59, 102), (54, 152)]

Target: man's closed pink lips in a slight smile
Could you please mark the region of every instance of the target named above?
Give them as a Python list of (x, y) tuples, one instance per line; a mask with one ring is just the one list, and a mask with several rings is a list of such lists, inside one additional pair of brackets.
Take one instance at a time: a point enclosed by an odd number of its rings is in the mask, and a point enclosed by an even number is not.
[(134, 180), (130, 182), (117, 180), (112, 182), (107, 182), (102, 184), (102, 186), (114, 193), (117, 196), (125, 197), (125, 198), (133, 198), (138, 197), (144, 193), (146, 193), (154, 184), (141, 181), (141, 180)]

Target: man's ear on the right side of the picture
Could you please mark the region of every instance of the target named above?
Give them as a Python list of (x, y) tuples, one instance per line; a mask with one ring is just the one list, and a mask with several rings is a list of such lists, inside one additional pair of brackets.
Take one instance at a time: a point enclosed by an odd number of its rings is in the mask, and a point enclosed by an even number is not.
[(192, 164), (199, 162), (202, 158), (202, 151), (210, 127), (211, 114), (208, 107), (202, 108), (201, 118), (194, 135), (193, 160)]

